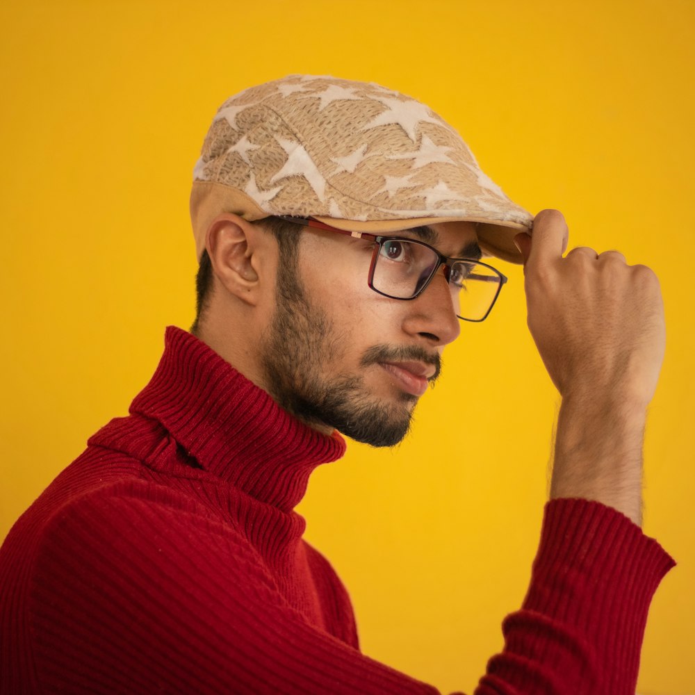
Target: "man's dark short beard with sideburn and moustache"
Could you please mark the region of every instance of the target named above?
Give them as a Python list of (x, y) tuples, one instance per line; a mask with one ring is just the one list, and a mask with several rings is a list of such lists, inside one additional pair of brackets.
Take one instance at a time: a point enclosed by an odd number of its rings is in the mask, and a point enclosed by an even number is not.
[[(261, 366), (272, 398), (308, 425), (327, 425), (356, 441), (375, 447), (398, 444), (409, 432), (417, 398), (401, 393), (397, 402), (370, 395), (361, 375), (322, 376), (326, 366), (340, 364), (351, 343), (349, 327), (338, 329), (325, 311), (309, 302), (294, 268), (279, 273), (275, 314), (261, 341)], [(374, 345), (360, 367), (382, 362), (418, 360), (434, 364), (439, 354), (414, 345)]]

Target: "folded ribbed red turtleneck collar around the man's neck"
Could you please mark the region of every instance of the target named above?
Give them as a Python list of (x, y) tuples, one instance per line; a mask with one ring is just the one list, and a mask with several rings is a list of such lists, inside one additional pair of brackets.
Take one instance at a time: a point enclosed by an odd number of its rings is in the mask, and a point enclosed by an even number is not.
[(316, 466), (345, 452), (296, 420), (211, 347), (167, 327), (159, 366), (131, 413), (158, 420), (206, 471), (284, 511), (302, 499)]

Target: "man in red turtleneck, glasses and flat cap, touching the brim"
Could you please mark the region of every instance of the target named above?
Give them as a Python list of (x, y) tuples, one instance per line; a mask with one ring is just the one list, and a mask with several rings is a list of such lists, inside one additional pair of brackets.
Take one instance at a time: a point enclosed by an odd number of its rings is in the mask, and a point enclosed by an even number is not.
[(634, 693), (673, 565), (641, 522), (641, 437), (664, 347), (653, 273), (563, 258), (423, 104), (290, 76), (218, 111), (191, 196), (191, 333), (89, 440), (0, 555), (3, 693), (432, 693), (359, 651), (350, 601), (293, 512), (341, 432), (407, 432), (460, 320), (525, 264), (562, 395), (528, 596), (476, 690)]

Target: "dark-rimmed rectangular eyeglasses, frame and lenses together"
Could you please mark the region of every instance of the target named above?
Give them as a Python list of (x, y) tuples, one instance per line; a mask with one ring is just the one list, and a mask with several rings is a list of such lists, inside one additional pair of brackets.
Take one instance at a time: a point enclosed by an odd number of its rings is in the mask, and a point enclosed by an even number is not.
[(422, 241), (345, 231), (312, 218), (278, 217), (304, 227), (373, 241), (374, 252), (367, 284), (373, 291), (394, 300), (414, 300), (425, 291), (443, 266), (456, 315), (464, 321), (484, 321), (497, 301), (502, 285), (507, 282), (505, 275), (487, 263), (448, 258)]

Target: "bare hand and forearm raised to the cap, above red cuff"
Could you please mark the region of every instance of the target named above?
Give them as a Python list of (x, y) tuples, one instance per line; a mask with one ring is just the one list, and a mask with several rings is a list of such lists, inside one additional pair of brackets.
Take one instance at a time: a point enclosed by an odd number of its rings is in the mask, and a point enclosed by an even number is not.
[(615, 251), (564, 258), (562, 214), (519, 234), (530, 332), (562, 395), (550, 496), (582, 497), (641, 523), (641, 443), (664, 355), (659, 282)]

